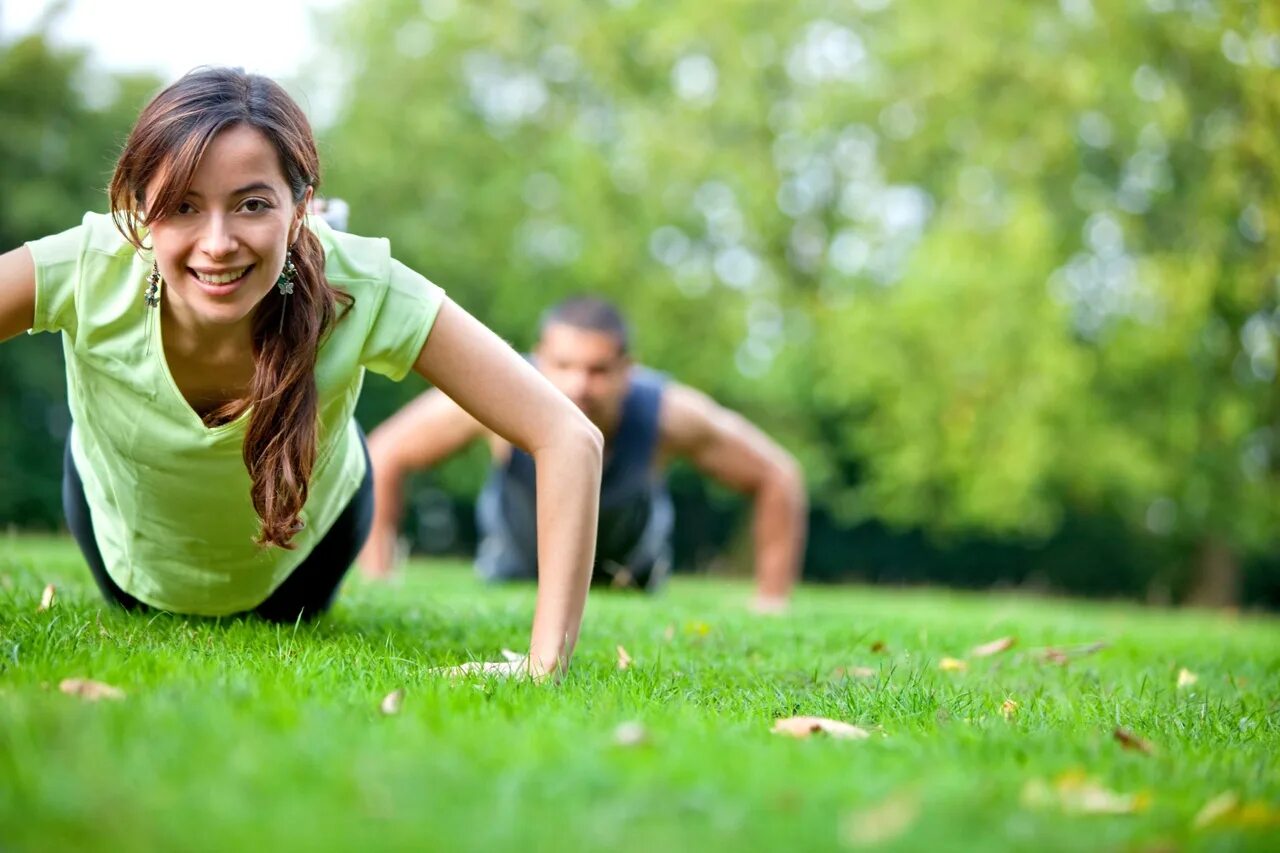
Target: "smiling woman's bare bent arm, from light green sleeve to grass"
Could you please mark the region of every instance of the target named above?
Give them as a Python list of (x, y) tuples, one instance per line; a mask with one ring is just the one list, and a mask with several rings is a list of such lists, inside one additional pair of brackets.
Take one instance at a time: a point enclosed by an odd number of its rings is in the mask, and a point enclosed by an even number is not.
[(451, 300), (440, 306), (413, 369), (536, 462), (538, 603), (529, 669), (535, 678), (562, 671), (577, 643), (595, 558), (600, 430)]

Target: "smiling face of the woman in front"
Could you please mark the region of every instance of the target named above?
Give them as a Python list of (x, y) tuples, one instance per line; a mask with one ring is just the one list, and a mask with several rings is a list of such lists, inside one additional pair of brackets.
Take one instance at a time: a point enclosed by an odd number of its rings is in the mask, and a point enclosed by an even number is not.
[(310, 196), (307, 190), (293, 204), (279, 155), (261, 131), (237, 124), (219, 133), (178, 209), (151, 223), (163, 298), (198, 325), (246, 321), (270, 297)]

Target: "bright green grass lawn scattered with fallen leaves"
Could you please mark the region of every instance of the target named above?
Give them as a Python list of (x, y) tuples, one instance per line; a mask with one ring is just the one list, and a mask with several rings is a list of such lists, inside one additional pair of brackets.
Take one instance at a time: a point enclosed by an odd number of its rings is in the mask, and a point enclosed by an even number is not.
[[(593, 596), (562, 684), (451, 683), (430, 669), (521, 646), (530, 588), (419, 564), (348, 581), (314, 625), (129, 616), (69, 540), (0, 538), (0, 849), (1274, 849), (1274, 619), (869, 588), (760, 617), (748, 592)], [(127, 695), (60, 693), (72, 676)], [(791, 715), (872, 736), (769, 734)], [(614, 743), (625, 721), (648, 743)], [(1135, 811), (1073, 811), (1073, 785)], [(1242, 806), (1197, 829), (1226, 792)]]

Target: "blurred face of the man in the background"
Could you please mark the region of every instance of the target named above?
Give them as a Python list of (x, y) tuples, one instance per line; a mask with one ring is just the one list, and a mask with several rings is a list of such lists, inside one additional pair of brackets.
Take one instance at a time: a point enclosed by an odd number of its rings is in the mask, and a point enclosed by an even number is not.
[(534, 351), (538, 369), (600, 429), (613, 426), (627, 393), (631, 359), (605, 332), (553, 323)]

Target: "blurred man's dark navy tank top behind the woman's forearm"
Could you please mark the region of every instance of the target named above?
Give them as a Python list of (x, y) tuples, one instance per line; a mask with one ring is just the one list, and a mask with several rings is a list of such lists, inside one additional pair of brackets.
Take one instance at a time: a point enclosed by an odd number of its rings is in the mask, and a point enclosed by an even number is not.
[[(604, 448), (600, 479), (600, 524), (596, 561), (625, 562), (649, 524), (655, 501), (666, 498), (666, 487), (654, 471), (658, 452), (658, 416), (666, 377), (646, 368), (632, 368), (630, 387), (622, 400), (618, 429)], [(483, 537), (511, 543), (532, 576), (538, 565), (538, 503), (534, 459), (518, 447), (495, 465), (479, 505)]]

